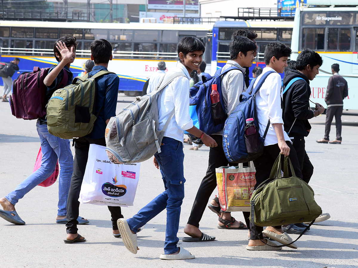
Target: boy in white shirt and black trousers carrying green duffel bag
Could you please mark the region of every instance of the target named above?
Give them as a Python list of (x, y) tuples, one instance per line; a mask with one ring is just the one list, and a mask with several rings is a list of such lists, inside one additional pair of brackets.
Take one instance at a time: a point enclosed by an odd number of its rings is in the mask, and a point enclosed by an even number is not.
[[(266, 67), (263, 68), (262, 74), (259, 75), (255, 81), (254, 86), (258, 83), (262, 75), (268, 71), (274, 71), (267, 76), (263, 82), (260, 90), (255, 95), (255, 104), (257, 112), (257, 120), (259, 124), (259, 131), (261, 137), (263, 137), (268, 121), (270, 120), (270, 127), (267, 131), (267, 135), (264, 142), (263, 153), (260, 157), (253, 160), (256, 168), (256, 185), (260, 185), (263, 181), (269, 179), (270, 172), (277, 156), (281, 153), (283, 155), (289, 155), (294, 167), (294, 171), (297, 177), (302, 178), (300, 165), (297, 159), (296, 151), (293, 148), (290, 138), (284, 131), (284, 121), (282, 120), (282, 82), (279, 73), (283, 73), (287, 66), (287, 58), (291, 55), (291, 49), (280, 43), (272, 42), (266, 46), (265, 49), (265, 63)], [(282, 167), (283, 168), (283, 167)], [(256, 229), (256, 232), (255, 232)], [(284, 234), (280, 226), (269, 226), (263, 231), (260, 226), (254, 225), (250, 222), (250, 241), (246, 249), (248, 250), (279, 250), (281, 247), (274, 248), (270, 245), (276, 245), (268, 239), (265, 239), (265, 245), (260, 239), (263, 239), (262, 234), (273, 238), (274, 240), (288, 244), (292, 242), (292, 239)], [(297, 248), (295, 244), (291, 244), (289, 247)]]

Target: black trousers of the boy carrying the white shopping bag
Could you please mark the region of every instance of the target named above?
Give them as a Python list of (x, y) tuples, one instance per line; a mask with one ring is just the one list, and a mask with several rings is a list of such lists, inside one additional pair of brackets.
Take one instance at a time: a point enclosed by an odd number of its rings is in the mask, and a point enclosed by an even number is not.
[[(79, 215), (79, 192), (81, 191), (82, 180), (84, 171), (86, 170), (89, 144), (97, 144), (106, 146), (105, 138), (101, 139), (90, 139), (90, 138), (78, 138), (74, 142), (74, 161), (73, 161), (73, 173), (71, 178), (71, 186), (68, 192), (67, 199), (67, 224), (66, 232), (68, 234), (76, 234), (77, 218)], [(108, 206), (111, 212), (111, 221), (113, 230), (118, 230), (117, 220), (123, 218), (121, 213), (121, 207)]]

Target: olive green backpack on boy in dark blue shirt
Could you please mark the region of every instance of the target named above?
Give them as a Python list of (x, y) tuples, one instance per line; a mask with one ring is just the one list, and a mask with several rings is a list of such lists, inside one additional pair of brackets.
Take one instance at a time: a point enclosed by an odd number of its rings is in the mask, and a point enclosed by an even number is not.
[(77, 76), (72, 84), (57, 89), (47, 104), (47, 128), (52, 135), (62, 139), (73, 139), (91, 133), (102, 108), (93, 114), (96, 101), (95, 79), (115, 74), (110, 71), (99, 71), (91, 78)]

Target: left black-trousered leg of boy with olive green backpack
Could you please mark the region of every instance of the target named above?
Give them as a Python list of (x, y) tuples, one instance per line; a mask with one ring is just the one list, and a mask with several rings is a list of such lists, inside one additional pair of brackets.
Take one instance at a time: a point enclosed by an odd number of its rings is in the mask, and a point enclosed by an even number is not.
[[(74, 161), (71, 186), (67, 200), (67, 239), (72, 240), (77, 237), (77, 218), (79, 215), (79, 192), (81, 191), (84, 171), (88, 159), (89, 142), (86, 138), (78, 138), (74, 142)], [(72, 234), (72, 235), (71, 235)], [(84, 239), (84, 238), (83, 238)]]

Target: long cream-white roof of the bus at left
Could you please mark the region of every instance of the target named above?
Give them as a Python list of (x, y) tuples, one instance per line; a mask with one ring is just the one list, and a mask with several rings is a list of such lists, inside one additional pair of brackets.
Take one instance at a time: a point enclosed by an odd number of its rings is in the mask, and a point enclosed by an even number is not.
[(72, 29), (128, 29), (128, 30), (182, 30), (211, 31), (209, 24), (172, 24), (172, 23), (88, 23), (56, 21), (0, 21), (0, 26), (10, 27), (41, 27), (41, 28), (72, 28)]

